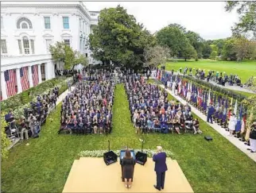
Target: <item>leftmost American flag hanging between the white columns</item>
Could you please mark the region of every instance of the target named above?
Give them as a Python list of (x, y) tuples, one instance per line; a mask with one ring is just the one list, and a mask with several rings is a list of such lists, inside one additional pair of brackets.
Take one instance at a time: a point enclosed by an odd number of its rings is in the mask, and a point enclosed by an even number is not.
[(7, 92), (6, 94), (7, 94), (7, 97), (10, 97), (17, 93), (16, 69), (5, 71), (4, 74), (5, 74), (5, 81), (6, 81), (6, 92)]

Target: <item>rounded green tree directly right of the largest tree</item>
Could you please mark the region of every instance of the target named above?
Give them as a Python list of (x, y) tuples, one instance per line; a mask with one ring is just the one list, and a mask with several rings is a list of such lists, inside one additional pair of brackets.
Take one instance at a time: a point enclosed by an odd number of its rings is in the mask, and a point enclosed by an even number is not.
[(157, 42), (171, 50), (171, 56), (181, 56), (181, 51), (188, 43), (182, 29), (176, 25), (167, 26), (156, 34)]

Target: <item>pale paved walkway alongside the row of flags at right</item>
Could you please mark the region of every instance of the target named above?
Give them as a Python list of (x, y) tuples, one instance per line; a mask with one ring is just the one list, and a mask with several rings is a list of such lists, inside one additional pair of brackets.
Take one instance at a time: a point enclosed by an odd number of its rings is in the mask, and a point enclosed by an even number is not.
[[(160, 84), (159, 86), (162, 88), (165, 88), (165, 86), (162, 84)], [(171, 91), (169, 89), (166, 89), (166, 91), (168, 91), (170, 95), (172, 95), (174, 98), (176, 98), (182, 104), (185, 105), (187, 103), (183, 98), (180, 98), (180, 96), (174, 95), (173, 91)], [(197, 110), (194, 106), (191, 106), (191, 107), (192, 107), (192, 112), (194, 114), (196, 114), (198, 117), (200, 117), (201, 119), (205, 120), (205, 122), (206, 122), (207, 117), (204, 114), (202, 114), (200, 112), (200, 110)], [(250, 152), (249, 150), (247, 150), (250, 147), (248, 145), (245, 145), (244, 142), (239, 141), (239, 138), (228, 136), (229, 132), (226, 131), (225, 129), (223, 129), (220, 125), (218, 125), (215, 122), (213, 124), (208, 123), (208, 125), (210, 125), (213, 129), (215, 129), (217, 132), (219, 132), (223, 137), (225, 137), (228, 141), (230, 141), (233, 145), (235, 145), (242, 152), (246, 153), (247, 156), (249, 156), (252, 160), (254, 160), (256, 162), (256, 152)]]

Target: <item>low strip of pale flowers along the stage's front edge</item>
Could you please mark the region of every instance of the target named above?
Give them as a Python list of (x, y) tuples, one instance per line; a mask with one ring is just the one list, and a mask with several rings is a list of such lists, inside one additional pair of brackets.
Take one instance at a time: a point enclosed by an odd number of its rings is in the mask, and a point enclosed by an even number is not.
[[(141, 149), (134, 149), (134, 152), (141, 152)], [(82, 151), (78, 154), (78, 156), (80, 157), (103, 157), (103, 153), (104, 152), (108, 152), (107, 150), (95, 150), (95, 151), (89, 151), (89, 150), (85, 150)], [(113, 150), (113, 152), (115, 154), (117, 154), (118, 156), (120, 156), (120, 150)], [(143, 152), (145, 152), (149, 157), (153, 157), (153, 153), (156, 152), (156, 150), (153, 149), (143, 149)], [(165, 151), (166, 155), (168, 157), (173, 156), (173, 152), (166, 150)]]

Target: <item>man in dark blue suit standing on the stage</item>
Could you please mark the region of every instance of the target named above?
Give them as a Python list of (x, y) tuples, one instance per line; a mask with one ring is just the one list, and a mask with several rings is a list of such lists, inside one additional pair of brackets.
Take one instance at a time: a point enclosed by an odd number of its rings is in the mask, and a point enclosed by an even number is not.
[(167, 171), (166, 153), (163, 152), (161, 146), (157, 146), (157, 153), (153, 155), (153, 161), (155, 162), (155, 172), (157, 173), (157, 185), (153, 185), (153, 187), (161, 191), (165, 186), (165, 171)]

